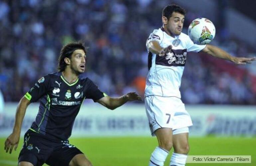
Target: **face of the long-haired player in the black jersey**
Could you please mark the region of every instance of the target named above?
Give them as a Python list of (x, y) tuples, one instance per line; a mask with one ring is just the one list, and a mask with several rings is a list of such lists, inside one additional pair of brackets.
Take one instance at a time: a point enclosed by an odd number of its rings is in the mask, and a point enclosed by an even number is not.
[(77, 74), (81, 74), (85, 70), (85, 52), (82, 49), (76, 49), (70, 59), (70, 68)]

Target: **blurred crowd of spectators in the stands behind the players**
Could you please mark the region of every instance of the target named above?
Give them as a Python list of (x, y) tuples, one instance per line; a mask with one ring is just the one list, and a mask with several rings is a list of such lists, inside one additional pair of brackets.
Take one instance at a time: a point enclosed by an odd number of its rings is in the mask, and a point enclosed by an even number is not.
[[(165, 5), (151, 0), (0, 1), (0, 88), (5, 101), (19, 101), (40, 77), (57, 71), (62, 45), (78, 40), (88, 46), (84, 75), (103, 92), (143, 96), (145, 42), (161, 27)], [(185, 33), (198, 17), (188, 11)], [(255, 52), (239, 42), (216, 37), (213, 44), (232, 55)], [(207, 63), (203, 55), (189, 55), (181, 86), (185, 103), (256, 104), (248, 74), (236, 77)]]

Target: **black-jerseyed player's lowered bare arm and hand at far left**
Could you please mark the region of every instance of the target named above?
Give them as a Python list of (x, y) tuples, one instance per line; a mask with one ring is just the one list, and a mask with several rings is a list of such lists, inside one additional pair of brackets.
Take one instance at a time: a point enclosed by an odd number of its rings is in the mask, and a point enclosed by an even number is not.
[(17, 107), (16, 115), (15, 115), (15, 124), (13, 127), (13, 131), (5, 140), (4, 150), (6, 150), (6, 153), (10, 149), (10, 154), (11, 154), (13, 147), (14, 147), (14, 150), (17, 149), (17, 146), (20, 140), (21, 124), (29, 104), (30, 104), (30, 101), (25, 97), (23, 97), (20, 100), (20, 103)]

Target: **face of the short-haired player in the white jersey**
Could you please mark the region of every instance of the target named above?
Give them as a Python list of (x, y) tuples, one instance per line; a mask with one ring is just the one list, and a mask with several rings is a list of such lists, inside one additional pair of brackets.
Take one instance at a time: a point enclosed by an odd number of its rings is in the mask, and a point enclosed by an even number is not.
[(167, 30), (174, 35), (180, 35), (183, 28), (185, 16), (181, 13), (173, 12), (172, 17), (166, 22)]

